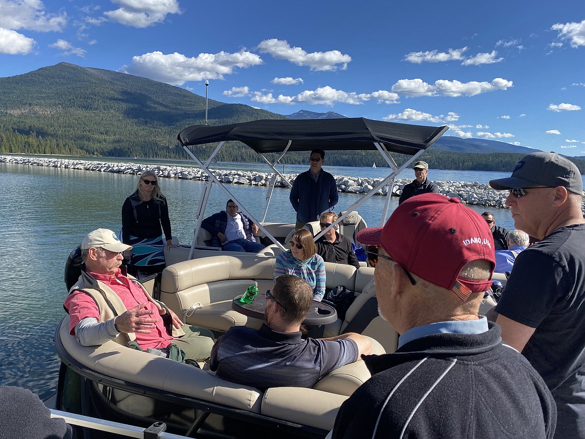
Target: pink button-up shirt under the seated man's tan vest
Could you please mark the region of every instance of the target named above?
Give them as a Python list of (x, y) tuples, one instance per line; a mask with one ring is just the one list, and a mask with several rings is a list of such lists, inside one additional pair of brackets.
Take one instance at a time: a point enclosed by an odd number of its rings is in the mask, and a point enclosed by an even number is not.
[[(154, 311), (153, 314), (146, 315), (145, 317), (156, 318), (156, 328), (151, 329), (150, 334), (136, 334), (136, 341), (141, 348), (165, 348), (176, 339), (169, 335), (164, 328), (159, 308), (149, 301), (142, 288), (128, 279), (128, 277), (123, 276), (119, 269), (116, 275), (98, 275), (97, 273), (91, 273), (91, 275), (100, 282), (105, 283), (116, 294), (118, 294), (127, 310), (139, 305), (140, 303), (146, 302), (146, 307), (143, 309)], [(83, 291), (73, 291), (73, 293), (71, 293), (65, 300), (64, 305), (70, 315), (69, 330), (71, 335), (75, 335), (75, 326), (77, 326), (77, 324), (85, 317), (95, 317), (99, 321), (97, 304), (89, 294), (86, 294)]]

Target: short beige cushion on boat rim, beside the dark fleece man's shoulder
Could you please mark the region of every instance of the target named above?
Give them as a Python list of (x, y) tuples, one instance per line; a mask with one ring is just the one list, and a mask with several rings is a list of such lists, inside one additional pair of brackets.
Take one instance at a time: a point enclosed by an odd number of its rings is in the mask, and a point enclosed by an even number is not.
[(331, 430), (347, 396), (301, 387), (273, 387), (264, 392), (262, 414)]

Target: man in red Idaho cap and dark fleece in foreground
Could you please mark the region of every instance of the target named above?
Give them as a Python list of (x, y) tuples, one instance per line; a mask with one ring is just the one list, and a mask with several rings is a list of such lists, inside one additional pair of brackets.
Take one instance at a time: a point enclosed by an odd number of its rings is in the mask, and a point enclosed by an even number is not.
[(526, 359), (478, 315), (494, 270), (486, 221), (456, 198), (424, 194), (381, 228), (378, 310), (400, 338), (394, 354), (362, 356), (371, 378), (340, 407), (339, 438), (551, 438), (556, 407)]

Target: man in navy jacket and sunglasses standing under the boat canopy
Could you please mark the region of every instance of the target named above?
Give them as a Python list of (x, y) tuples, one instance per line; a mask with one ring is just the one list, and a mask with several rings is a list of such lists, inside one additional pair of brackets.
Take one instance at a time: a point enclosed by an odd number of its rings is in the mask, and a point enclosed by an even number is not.
[(297, 212), (297, 230), (307, 222), (318, 221), (323, 212), (333, 211), (339, 199), (335, 179), (322, 169), (325, 151), (314, 149), (309, 159), (311, 167), (298, 174), (291, 188), (290, 201)]

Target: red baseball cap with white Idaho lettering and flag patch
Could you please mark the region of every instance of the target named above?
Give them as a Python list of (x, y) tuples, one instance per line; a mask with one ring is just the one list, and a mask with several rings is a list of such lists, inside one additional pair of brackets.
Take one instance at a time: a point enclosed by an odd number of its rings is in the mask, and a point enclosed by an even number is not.
[(491, 286), (491, 279), (459, 277), (462, 268), (477, 259), (490, 261), (493, 273), (495, 255), (494, 238), (486, 220), (457, 198), (441, 194), (408, 198), (384, 227), (365, 228), (356, 238), (362, 244), (381, 245), (409, 272), (453, 290), (461, 300)]

